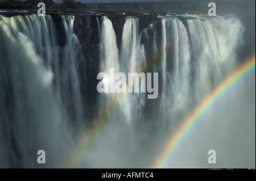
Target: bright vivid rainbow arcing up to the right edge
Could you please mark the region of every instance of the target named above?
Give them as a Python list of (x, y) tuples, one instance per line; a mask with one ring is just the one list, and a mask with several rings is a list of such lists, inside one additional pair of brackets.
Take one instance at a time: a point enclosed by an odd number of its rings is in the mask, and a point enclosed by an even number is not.
[(172, 153), (174, 153), (174, 150), (181, 144), (195, 124), (200, 121), (204, 113), (207, 112), (210, 107), (214, 106), (214, 103), (216, 103), (225, 92), (253, 71), (255, 71), (255, 54), (224, 78), (224, 80), (205, 96), (192, 112), (181, 121), (181, 124), (176, 131), (167, 139), (167, 144), (165, 144), (163, 150), (156, 157), (152, 168), (165, 167), (167, 161), (170, 160)]

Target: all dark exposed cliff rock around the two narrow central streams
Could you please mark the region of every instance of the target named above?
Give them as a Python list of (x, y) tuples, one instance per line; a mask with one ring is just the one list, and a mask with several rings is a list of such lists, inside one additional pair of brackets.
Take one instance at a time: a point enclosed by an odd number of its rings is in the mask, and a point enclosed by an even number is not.
[[(115, 31), (115, 35), (117, 38), (117, 47), (120, 50), (121, 49), (121, 43), (122, 43), (122, 31), (123, 26), (125, 24), (125, 20), (129, 16), (136, 16), (139, 18), (139, 32), (141, 32), (143, 29), (150, 26), (152, 22), (155, 24), (155, 30), (157, 35), (154, 35), (153, 30), (148, 30), (148, 37), (150, 37), (150, 41), (145, 37), (142, 37), (141, 43), (144, 44), (146, 47), (146, 54), (150, 54), (152, 52), (152, 41), (153, 37), (156, 36), (156, 43), (160, 43), (160, 39), (158, 37), (162, 36), (162, 29), (161, 29), (161, 20), (159, 18), (156, 18), (156, 14), (151, 15), (143, 15), (141, 13), (136, 12), (127, 12), (126, 14), (122, 13), (112, 13), (112, 12), (103, 12), (100, 15), (96, 14), (79, 14), (75, 15), (75, 21), (74, 21), (74, 32), (76, 36), (78, 37), (82, 52), (84, 54), (85, 60), (86, 60), (86, 70), (81, 70), (81, 78), (86, 79), (88, 87), (83, 87), (82, 90), (86, 89), (87, 94), (84, 95), (86, 98), (86, 101), (90, 105), (95, 105), (97, 102), (97, 81), (95, 81), (97, 74), (99, 73), (100, 68), (100, 27), (102, 23), (102, 16), (108, 16), (108, 19), (112, 22), (113, 28)], [(53, 15), (52, 15), (53, 16)], [(56, 18), (55, 18), (56, 19)], [(57, 24), (56, 24), (57, 26)], [(63, 41), (63, 40), (62, 40)], [(85, 91), (82, 91), (85, 92)], [(94, 106), (93, 106), (94, 107)], [(93, 111), (94, 108), (91, 107), (90, 111)], [(90, 109), (90, 108), (89, 108)]]

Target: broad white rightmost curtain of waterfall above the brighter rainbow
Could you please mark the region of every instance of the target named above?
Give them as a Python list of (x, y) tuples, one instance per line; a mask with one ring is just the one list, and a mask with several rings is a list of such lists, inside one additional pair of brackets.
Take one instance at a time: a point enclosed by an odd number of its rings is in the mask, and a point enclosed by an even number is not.
[(236, 47), (242, 43), (243, 27), (241, 22), (234, 18), (202, 17), (189, 19), (187, 22), (191, 37), (192, 61), (196, 68), (196, 71), (192, 70), (195, 79), (194, 95), (200, 100), (220, 81), (223, 74), (236, 66)]

